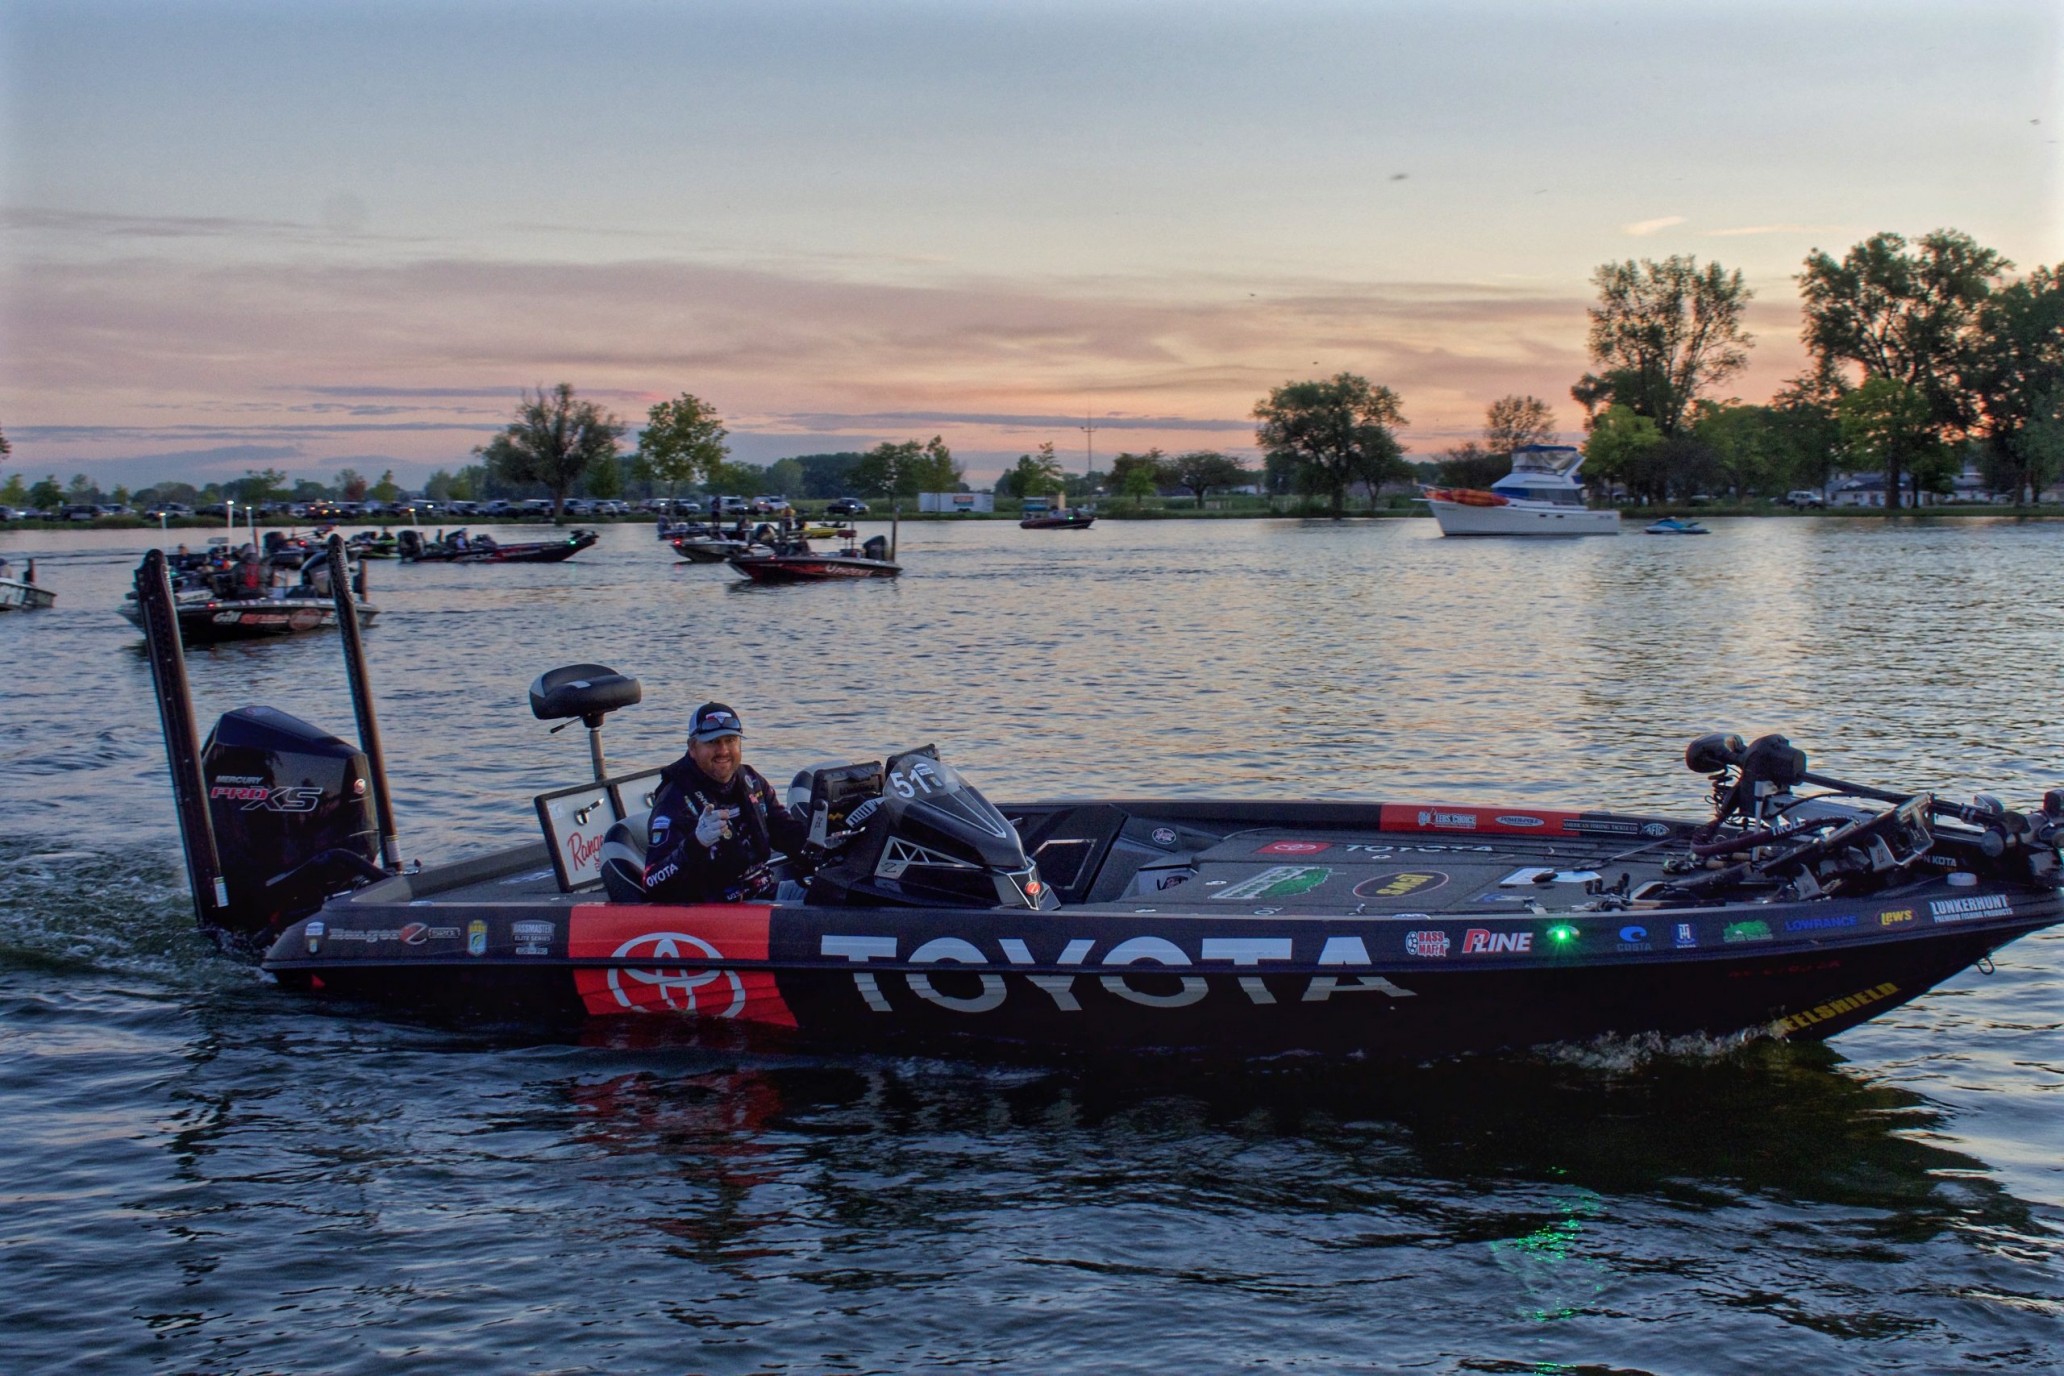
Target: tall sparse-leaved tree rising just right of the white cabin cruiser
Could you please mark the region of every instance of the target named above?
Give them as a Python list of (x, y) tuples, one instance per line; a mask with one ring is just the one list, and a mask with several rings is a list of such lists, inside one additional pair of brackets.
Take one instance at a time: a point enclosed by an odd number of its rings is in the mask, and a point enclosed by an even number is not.
[(1750, 291), (1742, 274), (1717, 262), (1672, 256), (1655, 262), (1608, 262), (1591, 272), (1591, 361), (1606, 373), (1585, 373), (1571, 388), (1587, 415), (1620, 404), (1655, 421), (1668, 439), (1701, 392), (1748, 365), (1754, 342), (1742, 330)]

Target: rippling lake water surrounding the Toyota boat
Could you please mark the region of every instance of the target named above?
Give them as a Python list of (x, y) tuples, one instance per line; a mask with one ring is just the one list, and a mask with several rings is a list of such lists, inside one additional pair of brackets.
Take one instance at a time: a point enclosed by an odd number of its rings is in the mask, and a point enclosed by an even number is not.
[[(374, 567), (409, 854), (741, 710), (770, 778), (937, 741), (997, 798), (1610, 800), (1701, 730), (1864, 782), (2064, 784), (2064, 524), (904, 526), (900, 582), (751, 588), (650, 528)], [(506, 532), (516, 538), (516, 532)], [(303, 1003), (188, 932), (144, 540), (8, 536), (0, 1364), (83, 1372), (2064, 1370), (2064, 935), (1825, 1048), (1410, 1069), (772, 1056)], [(349, 734), (334, 642), (196, 650), (202, 724)]]

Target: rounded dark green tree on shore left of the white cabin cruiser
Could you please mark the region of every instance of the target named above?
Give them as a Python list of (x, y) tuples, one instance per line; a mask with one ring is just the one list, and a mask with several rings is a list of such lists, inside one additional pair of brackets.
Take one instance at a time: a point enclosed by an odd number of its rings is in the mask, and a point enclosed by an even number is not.
[(1375, 493), (1381, 483), (1412, 472), (1393, 429), (1406, 425), (1397, 394), (1366, 378), (1335, 373), (1325, 382), (1286, 382), (1255, 404), (1255, 444), (1288, 464), (1307, 493), (1327, 495), (1335, 520), (1354, 483)]

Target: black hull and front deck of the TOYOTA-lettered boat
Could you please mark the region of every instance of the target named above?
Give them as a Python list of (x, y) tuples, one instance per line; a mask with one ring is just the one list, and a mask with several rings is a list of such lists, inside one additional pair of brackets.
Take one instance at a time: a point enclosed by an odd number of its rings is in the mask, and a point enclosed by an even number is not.
[(1631, 873), (1639, 893), (1662, 873), (1653, 842), (1690, 833), (1610, 813), (1005, 813), (1059, 908), (611, 904), (561, 893), (528, 846), (334, 897), (264, 965), (450, 1013), (687, 1019), (838, 1048), (1424, 1058), (1602, 1036), (1818, 1040), (2064, 920), (2054, 889), (1946, 879), (1600, 910), (1591, 881)]

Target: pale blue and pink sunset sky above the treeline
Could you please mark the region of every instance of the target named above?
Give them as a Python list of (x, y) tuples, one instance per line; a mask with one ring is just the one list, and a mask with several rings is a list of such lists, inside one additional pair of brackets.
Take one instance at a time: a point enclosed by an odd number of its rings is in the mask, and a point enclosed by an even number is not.
[(2060, 68), (2058, 0), (0, 0), (0, 472), (415, 485), (557, 382), (972, 479), (1337, 371), (1575, 439), (1600, 264), (1740, 268), (1767, 400), (1814, 248), (2064, 262)]

